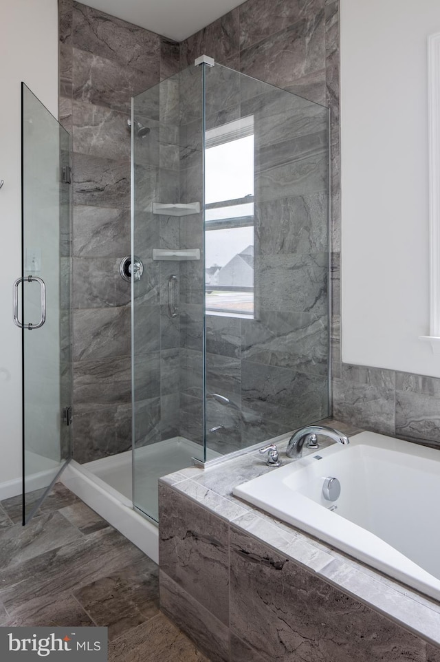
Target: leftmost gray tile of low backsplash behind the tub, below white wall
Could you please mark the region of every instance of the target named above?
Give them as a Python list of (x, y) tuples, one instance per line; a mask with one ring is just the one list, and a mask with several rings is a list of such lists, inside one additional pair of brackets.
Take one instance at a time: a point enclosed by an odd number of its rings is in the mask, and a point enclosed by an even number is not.
[(333, 416), (381, 434), (395, 434), (393, 389), (333, 379)]

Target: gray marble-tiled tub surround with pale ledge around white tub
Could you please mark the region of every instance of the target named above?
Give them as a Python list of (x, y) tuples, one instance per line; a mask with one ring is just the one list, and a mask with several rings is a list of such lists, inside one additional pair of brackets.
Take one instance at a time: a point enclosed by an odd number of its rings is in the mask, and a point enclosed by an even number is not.
[(437, 601), (234, 498), (267, 471), (252, 451), (161, 480), (164, 613), (212, 662), (439, 662)]

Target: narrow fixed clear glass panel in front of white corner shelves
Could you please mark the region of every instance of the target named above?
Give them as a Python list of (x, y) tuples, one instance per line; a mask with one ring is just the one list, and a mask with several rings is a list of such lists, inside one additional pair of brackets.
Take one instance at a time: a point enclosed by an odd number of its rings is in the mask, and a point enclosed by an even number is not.
[[(133, 255), (144, 264), (132, 284), (133, 503), (156, 521), (159, 476), (204, 457), (201, 74), (189, 67), (132, 107)], [(200, 259), (153, 259), (153, 249), (186, 248)]]

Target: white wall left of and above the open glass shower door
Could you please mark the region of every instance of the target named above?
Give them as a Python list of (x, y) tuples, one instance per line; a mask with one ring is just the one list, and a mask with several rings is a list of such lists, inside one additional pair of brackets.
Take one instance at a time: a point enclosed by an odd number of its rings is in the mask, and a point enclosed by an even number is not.
[(21, 475), (21, 332), (12, 283), (21, 272), (21, 109), (24, 81), (58, 116), (57, 0), (0, 0), (0, 484)]

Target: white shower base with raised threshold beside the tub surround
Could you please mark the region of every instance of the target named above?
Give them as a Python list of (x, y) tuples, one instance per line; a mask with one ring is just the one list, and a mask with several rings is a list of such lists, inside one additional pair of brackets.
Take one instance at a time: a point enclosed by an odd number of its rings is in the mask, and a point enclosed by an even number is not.
[[(71, 460), (61, 482), (157, 563), (157, 481), (191, 467), (192, 458), (201, 458), (201, 453), (203, 447), (184, 437), (135, 449), (134, 507), (132, 451), (84, 465)], [(210, 455), (213, 459), (217, 453)]]

